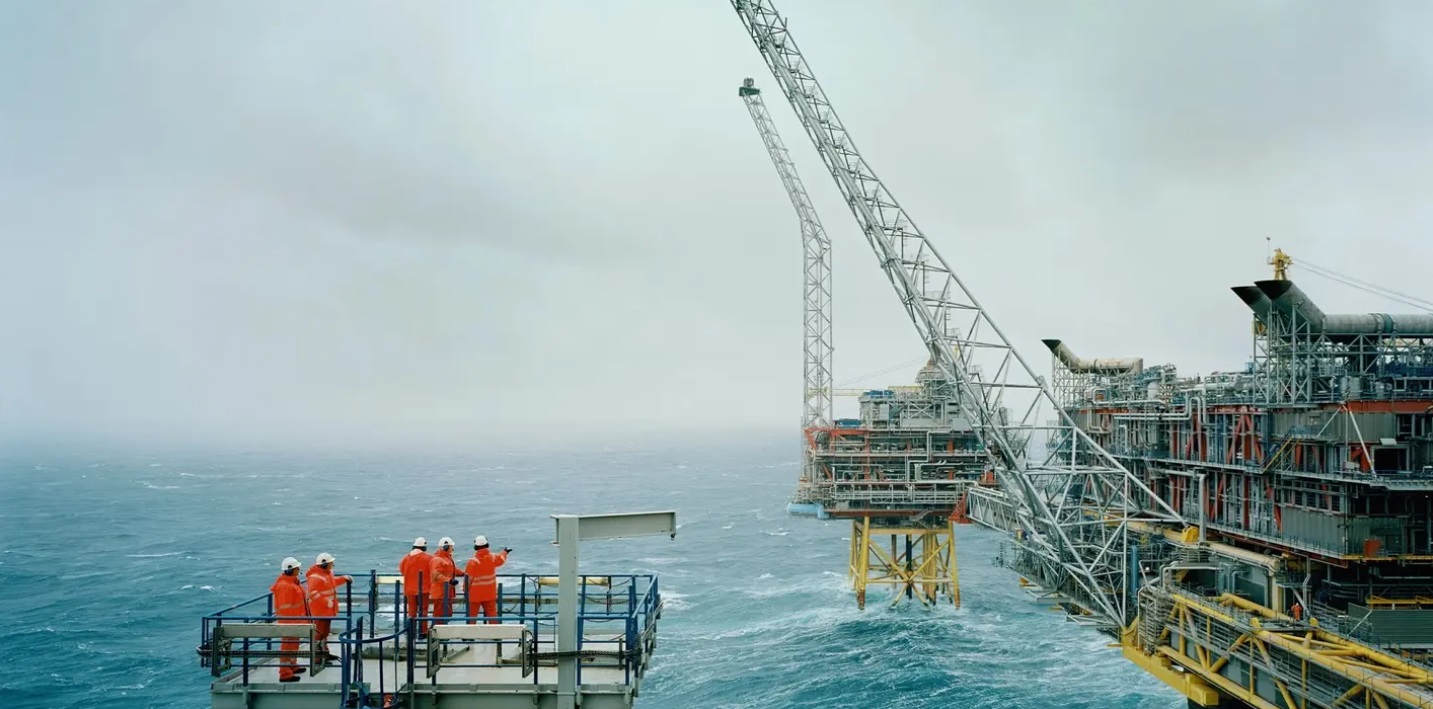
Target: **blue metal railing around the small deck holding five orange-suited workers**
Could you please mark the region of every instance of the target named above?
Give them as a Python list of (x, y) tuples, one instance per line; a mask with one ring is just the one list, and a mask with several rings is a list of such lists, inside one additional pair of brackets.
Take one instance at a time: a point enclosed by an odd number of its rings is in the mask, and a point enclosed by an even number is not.
[[(476, 604), (469, 602), (469, 590), (461, 587), (457, 593), (444, 593), (446, 603), (438, 610), (447, 607), (451, 614), (436, 614), (426, 594), (420, 594), (423, 609), (410, 614), (403, 592), (403, 579), (398, 576), (378, 574), (370, 571), (367, 579), (358, 577), (355, 583), (347, 584), (344, 603), (340, 613), (332, 619), (332, 630), (337, 636), (328, 640), (330, 652), (337, 652), (340, 682), (340, 706), (350, 700), (358, 700), (360, 706), (368, 698), (378, 698), (380, 703), (401, 692), (413, 692), (421, 679), (430, 679), (436, 685), (441, 669), (457, 667), (514, 667), (513, 655), (504, 659), (506, 647), (517, 647), (522, 657), (522, 679), (519, 683), (539, 685), (542, 682), (556, 682), (557, 659), (557, 587), (555, 576), (537, 574), (499, 574), (499, 599), (496, 617), (474, 617), (469, 614), (476, 610)], [(353, 589), (367, 580), (367, 589), (355, 593)], [(641, 677), (645, 666), (646, 652), (652, 642), (651, 633), (662, 610), (662, 597), (656, 576), (652, 574), (616, 574), (616, 576), (583, 576), (579, 579), (577, 593), (577, 652), (579, 657), (588, 662), (577, 662), (577, 682), (582, 680), (583, 667), (620, 669), (622, 683), (631, 686)], [(421, 584), (420, 584), (421, 587)], [(451, 592), (453, 589), (444, 589)], [(355, 603), (357, 597), (357, 603)], [(231, 623), (274, 623), (279, 620), (274, 614), (272, 594), (257, 596), (244, 603), (226, 607), (218, 613), (205, 616), (201, 627), (199, 655), (202, 666), (211, 667), (214, 676), (221, 676), (228, 667), (219, 659), (219, 649), (214, 646), (215, 629)], [(315, 620), (312, 616), (288, 617), (284, 620)], [(494, 646), (492, 660), (481, 653), (467, 653), (467, 662), (440, 660), (436, 667), (428, 667), (428, 653), (423, 630), (437, 624), (479, 622), (520, 626), (522, 637), (509, 633), (493, 639), (443, 639), (444, 649), (457, 646)], [(484, 623), (484, 624), (486, 624)], [(610, 633), (588, 637), (589, 632), (610, 627)], [(238, 639), (234, 640), (236, 645)], [(225, 677), (225, 682), (251, 685), (251, 669), (274, 662), (282, 652), (275, 652), (274, 645), (279, 639), (244, 639), (239, 647), (229, 647), (225, 660), (239, 660), (242, 663), (238, 673)], [(307, 640), (304, 640), (307, 643)], [(504, 645), (507, 643), (507, 645)], [(449, 653), (456, 655), (456, 653)], [(299, 666), (307, 666), (307, 655), (298, 653)], [(259, 662), (251, 662), (259, 659)], [(610, 662), (605, 662), (609, 660)], [(506, 662), (504, 662), (506, 660)], [(388, 665), (388, 663), (394, 663)], [(394, 679), (400, 686), (391, 686)], [(507, 682), (503, 682), (507, 685)]]

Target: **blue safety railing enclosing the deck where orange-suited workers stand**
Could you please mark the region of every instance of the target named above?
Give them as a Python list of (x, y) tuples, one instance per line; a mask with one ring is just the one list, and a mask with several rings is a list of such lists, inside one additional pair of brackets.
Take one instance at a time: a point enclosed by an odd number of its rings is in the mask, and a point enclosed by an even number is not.
[[(354, 586), (364, 580), (367, 589), (355, 592)], [(440, 609), (450, 607), (453, 614), (434, 614), (428, 607), (410, 614), (401, 576), (377, 571), (367, 579), (358, 576), (345, 586), (338, 616), (332, 619), (335, 636), (328, 649), (338, 656), (337, 682), (328, 675), (322, 685), (308, 680), (295, 689), (320, 692), (331, 686), (338, 706), (370, 702), (383, 706), (401, 693), (434, 692), (446, 673), (460, 676), (461, 670), (486, 672), (484, 682), (502, 683), (509, 692), (514, 683), (533, 690), (540, 683), (550, 685), (557, 677), (557, 660), (570, 656), (557, 652), (556, 582), (556, 576), (499, 574), (499, 616), (476, 619), (467, 614), (476, 604), (469, 603), (466, 587), (444, 594), (447, 603)], [(632, 686), (655, 649), (662, 610), (656, 576), (585, 576), (579, 579), (577, 607), (579, 686), (585, 683), (583, 670), (590, 675), (595, 669), (609, 670), (600, 683)], [(308, 667), (310, 677), (320, 675), (325, 663), (312, 626), (279, 624), (272, 609), (272, 594), (264, 594), (205, 616), (201, 665), (215, 677), (222, 676), (221, 682), (255, 692), (267, 690), (271, 680), (257, 680), (254, 670), (272, 667), (279, 657), (295, 656), (299, 666)], [(302, 643), (298, 652), (275, 647), (292, 636)], [(235, 666), (238, 672), (231, 672)], [(430, 688), (421, 688), (423, 682)], [(477, 683), (470, 677), (463, 682)]]

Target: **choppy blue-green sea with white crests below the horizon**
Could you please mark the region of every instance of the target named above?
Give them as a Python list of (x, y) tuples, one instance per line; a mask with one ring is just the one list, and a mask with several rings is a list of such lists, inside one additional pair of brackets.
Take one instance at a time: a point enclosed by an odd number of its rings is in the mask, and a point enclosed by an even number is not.
[[(393, 571), (413, 537), (513, 547), (555, 573), (553, 513), (676, 510), (675, 540), (592, 541), (582, 570), (656, 573), (639, 709), (1145, 708), (1174, 690), (1017, 589), (957, 527), (962, 607), (856, 609), (850, 523), (785, 514), (790, 435), (473, 453), (10, 447), (0, 453), (0, 706), (209, 706), (199, 617), (285, 556)], [(431, 547), (430, 547), (431, 549)]]

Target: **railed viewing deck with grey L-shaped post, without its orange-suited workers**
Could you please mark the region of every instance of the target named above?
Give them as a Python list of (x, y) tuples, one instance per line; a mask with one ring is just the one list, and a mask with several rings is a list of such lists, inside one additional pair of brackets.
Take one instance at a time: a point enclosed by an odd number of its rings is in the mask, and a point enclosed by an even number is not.
[[(198, 653), (214, 676), (211, 706), (631, 709), (656, 649), (658, 579), (577, 574), (575, 547), (675, 536), (675, 514), (555, 517), (559, 573), (499, 574), (492, 623), (467, 617), (461, 584), (449, 599), (451, 616), (410, 616), (403, 577), (378, 571), (340, 594), (327, 643), (337, 662), (322, 662), (311, 623), (279, 623), (271, 594), (205, 616)], [(284, 639), (297, 639), (298, 649), (285, 652)], [(279, 682), (285, 657), (297, 659), (301, 680)]]

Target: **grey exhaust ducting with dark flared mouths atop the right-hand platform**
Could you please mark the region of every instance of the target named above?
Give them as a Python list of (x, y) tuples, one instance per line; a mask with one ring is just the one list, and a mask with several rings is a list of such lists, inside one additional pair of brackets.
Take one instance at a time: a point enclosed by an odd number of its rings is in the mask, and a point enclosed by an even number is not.
[(1381, 312), (1328, 315), (1308, 298), (1293, 281), (1255, 281), (1262, 298), (1254, 295), (1247, 285), (1234, 288), (1234, 294), (1267, 322), (1271, 312), (1294, 318), (1295, 327), (1308, 328), (1313, 334), (1328, 337), (1396, 335), (1433, 337), (1433, 314), (1389, 315)]

